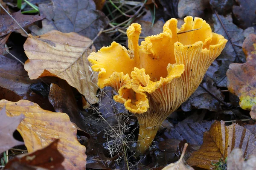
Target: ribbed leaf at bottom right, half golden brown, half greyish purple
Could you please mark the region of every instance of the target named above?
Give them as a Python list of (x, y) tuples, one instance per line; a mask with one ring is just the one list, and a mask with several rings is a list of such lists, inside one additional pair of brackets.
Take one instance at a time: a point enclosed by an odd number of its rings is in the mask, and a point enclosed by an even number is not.
[(231, 151), (239, 147), (245, 159), (256, 153), (256, 138), (246, 128), (233, 123), (225, 126), (224, 121), (216, 121), (209, 132), (204, 133), (204, 142), (201, 148), (189, 157), (187, 163), (190, 166), (212, 169), (212, 163), (219, 159), (225, 160)]

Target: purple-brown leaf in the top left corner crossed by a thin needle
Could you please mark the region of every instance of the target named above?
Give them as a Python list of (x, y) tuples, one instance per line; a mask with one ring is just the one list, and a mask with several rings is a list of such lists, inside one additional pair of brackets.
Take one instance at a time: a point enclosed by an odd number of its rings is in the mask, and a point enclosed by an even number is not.
[[(12, 17), (20, 24), (21, 27), (28, 26), (38, 20), (43, 20), (44, 17), (38, 15), (23, 15), (21, 11), (11, 14)], [(20, 26), (8, 15), (0, 14), (0, 37), (20, 29)]]

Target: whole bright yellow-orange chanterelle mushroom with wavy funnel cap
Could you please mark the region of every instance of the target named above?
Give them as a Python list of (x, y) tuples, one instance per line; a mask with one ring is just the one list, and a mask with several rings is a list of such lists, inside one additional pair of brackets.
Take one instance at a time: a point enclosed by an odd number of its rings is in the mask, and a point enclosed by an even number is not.
[(150, 146), (163, 120), (198, 88), (227, 43), (205, 20), (189, 16), (184, 21), (178, 29), (172, 18), (162, 33), (146, 37), (141, 45), (141, 27), (134, 23), (127, 29), (129, 50), (112, 42), (88, 57), (93, 71), (99, 71), (99, 87), (115, 88), (115, 101), (137, 116), (140, 153)]

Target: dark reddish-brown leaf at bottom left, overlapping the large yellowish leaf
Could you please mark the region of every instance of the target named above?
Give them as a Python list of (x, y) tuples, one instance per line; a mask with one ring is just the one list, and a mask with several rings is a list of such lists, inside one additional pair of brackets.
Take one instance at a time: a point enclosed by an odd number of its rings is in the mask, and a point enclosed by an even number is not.
[(16, 162), (19, 166), (28, 166), (31, 168), (41, 167), (47, 170), (65, 170), (61, 165), (64, 161), (64, 157), (57, 149), (59, 139), (44, 147), (41, 150), (37, 150), (32, 153), (17, 155), (14, 159), (10, 160), (5, 169), (9, 170), (14, 168), (13, 164)]

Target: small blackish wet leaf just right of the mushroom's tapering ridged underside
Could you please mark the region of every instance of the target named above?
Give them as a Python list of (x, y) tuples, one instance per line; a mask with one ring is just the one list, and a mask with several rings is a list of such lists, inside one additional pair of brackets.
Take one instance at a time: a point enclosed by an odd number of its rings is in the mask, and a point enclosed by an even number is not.
[[(201, 87), (203, 86), (203, 88)], [(189, 99), (181, 105), (183, 111), (191, 111), (192, 106), (196, 109), (208, 109), (209, 111), (221, 111), (221, 103), (224, 101), (224, 95), (218, 89), (211, 78), (205, 77), (196, 91)], [(209, 91), (209, 93), (205, 90)], [(214, 95), (215, 97), (213, 97)], [(216, 99), (218, 98), (218, 100)]]

